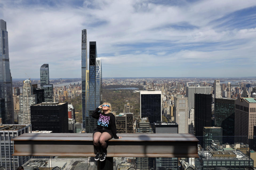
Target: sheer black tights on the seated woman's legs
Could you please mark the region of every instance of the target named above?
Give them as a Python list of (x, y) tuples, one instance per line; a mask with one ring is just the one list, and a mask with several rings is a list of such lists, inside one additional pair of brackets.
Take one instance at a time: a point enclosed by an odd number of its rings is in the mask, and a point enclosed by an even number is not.
[(107, 141), (111, 138), (111, 135), (107, 132), (95, 132), (93, 134), (93, 145), (95, 146), (96, 151), (101, 152), (102, 148), (102, 151), (107, 153)]

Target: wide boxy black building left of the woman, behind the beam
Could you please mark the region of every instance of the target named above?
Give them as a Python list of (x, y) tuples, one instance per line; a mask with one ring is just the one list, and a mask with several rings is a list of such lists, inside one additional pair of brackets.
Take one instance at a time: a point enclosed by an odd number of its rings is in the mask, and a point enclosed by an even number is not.
[(68, 133), (67, 103), (40, 103), (30, 106), (32, 130)]

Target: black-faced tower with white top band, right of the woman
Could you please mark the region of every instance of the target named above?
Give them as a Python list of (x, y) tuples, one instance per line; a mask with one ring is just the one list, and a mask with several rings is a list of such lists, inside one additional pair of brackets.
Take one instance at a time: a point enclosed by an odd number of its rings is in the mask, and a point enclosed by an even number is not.
[(161, 91), (140, 91), (141, 115), (148, 117), (151, 128), (154, 130), (154, 122), (162, 121), (162, 100)]

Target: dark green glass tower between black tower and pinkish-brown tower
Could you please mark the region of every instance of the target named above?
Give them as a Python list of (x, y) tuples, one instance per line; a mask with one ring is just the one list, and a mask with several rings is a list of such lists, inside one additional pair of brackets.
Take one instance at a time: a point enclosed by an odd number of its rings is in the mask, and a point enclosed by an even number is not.
[(215, 98), (214, 99), (214, 126), (221, 127), (223, 131), (223, 143), (234, 143), (230, 136), (235, 135), (235, 99)]

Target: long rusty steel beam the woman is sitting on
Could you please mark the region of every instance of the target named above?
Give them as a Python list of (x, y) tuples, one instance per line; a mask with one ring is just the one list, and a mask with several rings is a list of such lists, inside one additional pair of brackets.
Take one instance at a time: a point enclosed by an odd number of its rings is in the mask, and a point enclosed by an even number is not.
[[(113, 157), (198, 157), (191, 134), (118, 134), (108, 142)], [(24, 133), (14, 139), (14, 156), (95, 156), (91, 133)]]

